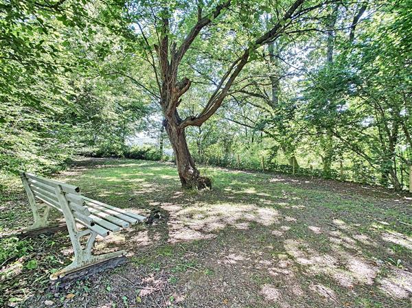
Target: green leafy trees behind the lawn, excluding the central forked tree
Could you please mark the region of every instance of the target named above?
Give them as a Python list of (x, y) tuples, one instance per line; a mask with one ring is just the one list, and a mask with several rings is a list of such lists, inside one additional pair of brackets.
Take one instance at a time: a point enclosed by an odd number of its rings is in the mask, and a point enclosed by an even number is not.
[[(129, 38), (137, 29), (119, 19), (122, 5), (0, 3), (3, 189), (21, 169), (58, 171), (78, 154), (172, 159), (162, 155), (170, 145), (155, 78)], [(198, 163), (409, 185), (411, 2), (342, 2), (327, 10), (316, 21), (321, 31), (297, 30), (254, 54), (216, 115), (187, 128)], [(266, 17), (258, 18), (264, 28)], [(199, 40), (190, 49), (186, 65), (197, 73), (179, 106), (183, 116), (205, 104), (233, 40), (222, 36), (207, 48)], [(137, 132), (159, 145), (130, 147)]]

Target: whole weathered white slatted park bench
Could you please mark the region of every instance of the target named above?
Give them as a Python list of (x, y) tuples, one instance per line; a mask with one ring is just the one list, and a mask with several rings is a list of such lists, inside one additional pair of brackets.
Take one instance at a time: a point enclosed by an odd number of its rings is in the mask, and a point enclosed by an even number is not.
[[(73, 244), (74, 259), (70, 265), (52, 274), (50, 276), (52, 280), (124, 256), (123, 250), (98, 256), (92, 255), (91, 249), (96, 236), (106, 237), (111, 231), (118, 231), (130, 224), (146, 220), (144, 216), (84, 197), (80, 194), (79, 187), (73, 185), (27, 172), (21, 173), (21, 180), (34, 217), (34, 224), (26, 230), (47, 228), (49, 226), (47, 216), (51, 208), (65, 217), (71, 244)], [(78, 224), (84, 228), (78, 228)], [(83, 248), (80, 238), (85, 235), (89, 235), (89, 239)]]

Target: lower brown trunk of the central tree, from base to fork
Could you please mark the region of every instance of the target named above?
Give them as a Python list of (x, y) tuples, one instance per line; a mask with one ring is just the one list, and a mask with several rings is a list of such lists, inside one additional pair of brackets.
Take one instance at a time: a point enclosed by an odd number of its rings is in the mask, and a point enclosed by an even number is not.
[(174, 115), (166, 117), (165, 130), (168, 132), (169, 140), (172, 144), (182, 187), (185, 189), (211, 188), (209, 178), (200, 176), (200, 172), (196, 168), (189, 147), (187, 146), (185, 130), (179, 128), (180, 122), (181, 119), (177, 112), (175, 112)]

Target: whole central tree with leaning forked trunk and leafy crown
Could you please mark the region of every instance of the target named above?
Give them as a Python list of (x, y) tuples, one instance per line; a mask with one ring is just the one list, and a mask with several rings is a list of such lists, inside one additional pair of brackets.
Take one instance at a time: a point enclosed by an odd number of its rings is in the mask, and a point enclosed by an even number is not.
[[(126, 16), (135, 27), (136, 53), (144, 58), (156, 79), (149, 91), (157, 97), (163, 112), (163, 125), (176, 156), (183, 187), (210, 187), (209, 179), (196, 169), (185, 137), (185, 128), (201, 126), (236, 91), (244, 67), (254, 60), (258, 49), (284, 34), (297, 34), (317, 27), (325, 8), (334, 1), (130, 1)], [(261, 27), (269, 14), (269, 27)], [(201, 39), (199, 39), (201, 36)], [(183, 95), (189, 91), (196, 71), (187, 58), (196, 59), (214, 50), (220, 40), (235, 41), (227, 48), (227, 62), (211, 72), (211, 95), (201, 112), (179, 115)], [(192, 53), (188, 53), (192, 51)], [(187, 56), (190, 54), (190, 56)], [(226, 57), (228, 59), (228, 57)], [(201, 57), (198, 57), (201, 60)]]

